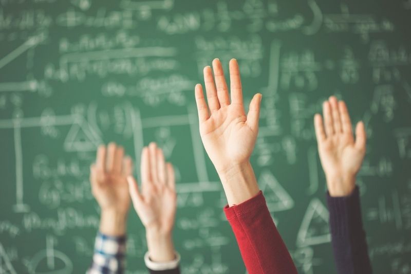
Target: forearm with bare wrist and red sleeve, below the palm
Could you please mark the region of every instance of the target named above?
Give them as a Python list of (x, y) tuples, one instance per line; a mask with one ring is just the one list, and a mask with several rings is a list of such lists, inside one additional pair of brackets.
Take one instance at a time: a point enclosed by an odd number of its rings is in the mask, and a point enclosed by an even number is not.
[(249, 161), (217, 168), (229, 206), (225, 208), (249, 273), (296, 273), (268, 211)]

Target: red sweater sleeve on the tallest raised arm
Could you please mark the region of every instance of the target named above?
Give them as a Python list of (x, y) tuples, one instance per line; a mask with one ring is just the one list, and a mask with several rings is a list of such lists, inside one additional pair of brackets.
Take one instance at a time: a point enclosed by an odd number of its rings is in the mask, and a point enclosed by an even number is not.
[(224, 211), (249, 274), (297, 273), (261, 191), (244, 203), (226, 206)]

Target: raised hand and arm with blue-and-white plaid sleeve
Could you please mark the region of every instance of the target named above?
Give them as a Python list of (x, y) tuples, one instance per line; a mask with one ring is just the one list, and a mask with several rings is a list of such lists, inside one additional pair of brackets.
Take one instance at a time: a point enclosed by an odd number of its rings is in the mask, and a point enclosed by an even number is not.
[(130, 206), (127, 176), (133, 171), (132, 160), (115, 143), (101, 145), (96, 163), (90, 167), (91, 192), (100, 208), (100, 228), (93, 263), (88, 273), (123, 273), (125, 232)]

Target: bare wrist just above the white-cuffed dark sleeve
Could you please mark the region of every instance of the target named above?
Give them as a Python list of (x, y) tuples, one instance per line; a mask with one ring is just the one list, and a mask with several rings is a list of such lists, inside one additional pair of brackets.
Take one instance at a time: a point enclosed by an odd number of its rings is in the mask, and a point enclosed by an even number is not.
[(173, 236), (171, 231), (156, 228), (146, 229), (147, 248), (153, 262), (170, 262), (175, 259)]

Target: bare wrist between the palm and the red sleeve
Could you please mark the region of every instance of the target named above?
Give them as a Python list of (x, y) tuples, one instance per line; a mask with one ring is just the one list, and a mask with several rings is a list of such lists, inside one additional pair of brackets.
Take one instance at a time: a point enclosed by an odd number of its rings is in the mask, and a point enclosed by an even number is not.
[(258, 194), (259, 188), (250, 161), (232, 163), (218, 170), (229, 206), (238, 205)]

